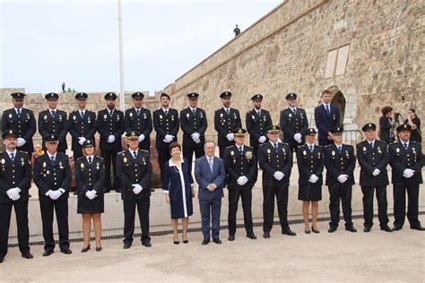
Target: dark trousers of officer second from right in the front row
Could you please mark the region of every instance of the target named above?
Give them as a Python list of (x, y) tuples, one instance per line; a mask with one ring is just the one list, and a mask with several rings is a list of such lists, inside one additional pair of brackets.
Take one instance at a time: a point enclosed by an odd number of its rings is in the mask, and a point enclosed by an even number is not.
[(377, 219), (381, 227), (388, 224), (388, 215), (386, 214), (386, 185), (383, 186), (361, 186), (363, 193), (363, 218), (365, 220), (364, 227), (373, 226), (373, 193), (377, 192)]

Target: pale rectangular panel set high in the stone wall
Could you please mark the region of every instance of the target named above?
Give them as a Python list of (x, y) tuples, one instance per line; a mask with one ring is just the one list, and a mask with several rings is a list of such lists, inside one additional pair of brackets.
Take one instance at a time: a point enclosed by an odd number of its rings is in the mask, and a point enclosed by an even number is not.
[(332, 78), (345, 74), (349, 52), (350, 44), (332, 49), (327, 53), (325, 78)]

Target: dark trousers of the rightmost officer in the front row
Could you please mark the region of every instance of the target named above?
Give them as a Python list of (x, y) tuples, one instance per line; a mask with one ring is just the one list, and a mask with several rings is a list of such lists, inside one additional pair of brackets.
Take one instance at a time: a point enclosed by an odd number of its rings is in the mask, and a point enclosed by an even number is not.
[(411, 227), (420, 227), (418, 219), (419, 184), (394, 184), (394, 226), (403, 227), (406, 216), (406, 191), (409, 197), (407, 202), (407, 219)]

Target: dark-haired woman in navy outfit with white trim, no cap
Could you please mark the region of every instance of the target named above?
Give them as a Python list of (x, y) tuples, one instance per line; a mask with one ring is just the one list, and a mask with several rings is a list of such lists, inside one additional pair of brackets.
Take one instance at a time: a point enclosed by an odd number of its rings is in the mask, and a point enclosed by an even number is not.
[(165, 202), (169, 203), (171, 210), (174, 244), (179, 244), (178, 219), (182, 219), (183, 243), (187, 244), (189, 216), (194, 213), (192, 198), (195, 193), (191, 185), (193, 180), (188, 170), (188, 161), (181, 158), (181, 146), (178, 142), (169, 144), (169, 154), (171, 159), (163, 167), (162, 190), (165, 193)]

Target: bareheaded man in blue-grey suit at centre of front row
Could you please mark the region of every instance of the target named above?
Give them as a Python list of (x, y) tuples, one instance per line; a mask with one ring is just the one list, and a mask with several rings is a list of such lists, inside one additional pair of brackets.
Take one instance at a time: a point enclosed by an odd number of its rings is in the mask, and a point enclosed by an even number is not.
[[(204, 143), (205, 155), (195, 160), (195, 179), (199, 184), (198, 199), (202, 218), (203, 245), (210, 242), (210, 219), (212, 219), (212, 241), (221, 244), (220, 213), (223, 185), (226, 178), (224, 162), (215, 157), (215, 142)], [(211, 211), (211, 214), (210, 214)]]

